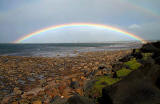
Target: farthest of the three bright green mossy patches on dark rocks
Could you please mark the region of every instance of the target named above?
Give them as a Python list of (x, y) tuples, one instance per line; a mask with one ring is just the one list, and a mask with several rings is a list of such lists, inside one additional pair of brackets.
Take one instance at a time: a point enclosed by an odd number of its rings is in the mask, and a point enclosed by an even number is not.
[(141, 64), (136, 60), (136, 58), (132, 58), (130, 61), (125, 62), (124, 65), (127, 65), (129, 69), (136, 70)]

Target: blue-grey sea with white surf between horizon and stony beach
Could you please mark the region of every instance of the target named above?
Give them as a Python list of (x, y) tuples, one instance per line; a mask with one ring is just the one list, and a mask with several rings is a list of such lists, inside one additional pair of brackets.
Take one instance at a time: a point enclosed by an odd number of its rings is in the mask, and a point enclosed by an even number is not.
[[(75, 56), (79, 52), (139, 48), (139, 43), (0, 44), (0, 56)], [(77, 53), (75, 53), (75, 51)]]

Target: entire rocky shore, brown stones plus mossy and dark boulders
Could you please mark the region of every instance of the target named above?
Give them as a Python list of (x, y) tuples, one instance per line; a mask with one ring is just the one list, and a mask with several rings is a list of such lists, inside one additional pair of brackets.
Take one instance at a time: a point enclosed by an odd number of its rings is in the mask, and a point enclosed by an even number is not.
[(75, 57), (0, 56), (1, 104), (160, 104), (160, 42)]

